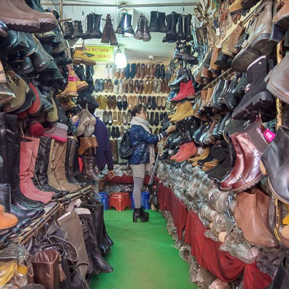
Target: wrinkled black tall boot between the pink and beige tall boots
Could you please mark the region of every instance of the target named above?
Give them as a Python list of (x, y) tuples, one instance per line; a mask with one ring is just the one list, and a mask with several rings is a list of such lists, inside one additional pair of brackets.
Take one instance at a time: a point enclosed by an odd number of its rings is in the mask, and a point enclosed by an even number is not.
[(47, 136), (40, 137), (39, 149), (35, 163), (35, 171), (34, 171), (34, 178), (33, 183), (36, 188), (44, 191), (53, 191), (55, 192), (56, 197), (63, 196), (68, 194), (68, 191), (61, 191), (56, 190), (48, 183), (48, 164), (49, 164), (49, 153), (51, 145), (51, 138)]

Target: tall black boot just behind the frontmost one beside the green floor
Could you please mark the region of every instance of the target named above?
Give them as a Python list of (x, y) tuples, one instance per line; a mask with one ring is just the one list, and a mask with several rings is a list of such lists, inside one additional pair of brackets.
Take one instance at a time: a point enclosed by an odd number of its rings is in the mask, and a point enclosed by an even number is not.
[(95, 226), (98, 247), (101, 250), (101, 253), (108, 253), (110, 251), (110, 245), (103, 236), (103, 204), (95, 199), (89, 198), (85, 203), (81, 204), (81, 207), (90, 210)]

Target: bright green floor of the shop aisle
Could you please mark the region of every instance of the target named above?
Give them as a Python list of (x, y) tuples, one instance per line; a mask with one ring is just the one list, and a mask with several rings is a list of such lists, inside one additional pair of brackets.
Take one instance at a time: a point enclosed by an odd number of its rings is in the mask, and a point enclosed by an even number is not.
[(158, 211), (146, 223), (133, 223), (132, 211), (105, 211), (105, 225), (114, 245), (105, 259), (113, 273), (93, 277), (91, 289), (196, 289), (188, 263), (179, 257)]

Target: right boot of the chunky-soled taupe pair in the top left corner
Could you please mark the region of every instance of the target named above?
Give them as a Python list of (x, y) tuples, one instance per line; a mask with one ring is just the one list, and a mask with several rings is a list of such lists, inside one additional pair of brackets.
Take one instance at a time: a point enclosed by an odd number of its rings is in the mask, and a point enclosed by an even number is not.
[(9, 0), (17, 9), (22, 12), (28, 13), (32, 16), (35, 16), (40, 23), (39, 32), (47, 32), (53, 30), (57, 26), (57, 20), (53, 13), (50, 12), (39, 12), (30, 8), (24, 0)]

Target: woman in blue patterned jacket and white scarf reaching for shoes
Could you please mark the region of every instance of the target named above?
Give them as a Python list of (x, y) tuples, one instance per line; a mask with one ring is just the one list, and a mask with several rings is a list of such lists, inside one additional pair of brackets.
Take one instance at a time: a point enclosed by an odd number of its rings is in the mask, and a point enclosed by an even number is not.
[(144, 212), (140, 206), (144, 175), (146, 171), (151, 170), (153, 163), (155, 162), (155, 144), (174, 131), (176, 126), (171, 125), (166, 131), (158, 135), (153, 135), (148, 128), (146, 107), (144, 105), (139, 104), (134, 106), (131, 110), (131, 116), (131, 129), (129, 134), (134, 152), (129, 159), (129, 164), (134, 177), (133, 195), (135, 209), (133, 221), (137, 222), (139, 218), (141, 222), (146, 222), (149, 221), (149, 214)]

